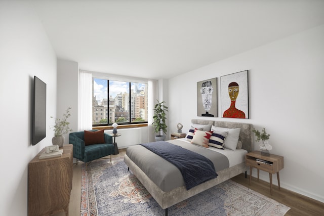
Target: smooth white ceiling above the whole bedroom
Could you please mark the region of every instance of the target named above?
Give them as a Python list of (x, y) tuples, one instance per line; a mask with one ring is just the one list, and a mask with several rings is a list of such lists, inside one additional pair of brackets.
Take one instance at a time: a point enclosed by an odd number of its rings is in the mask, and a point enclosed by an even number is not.
[(324, 1), (30, 0), (59, 59), (170, 78), (324, 24)]

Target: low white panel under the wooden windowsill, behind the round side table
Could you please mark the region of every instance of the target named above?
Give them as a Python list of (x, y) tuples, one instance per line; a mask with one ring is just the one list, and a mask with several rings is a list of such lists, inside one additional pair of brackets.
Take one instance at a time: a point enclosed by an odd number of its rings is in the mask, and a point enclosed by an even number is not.
[[(106, 130), (105, 133), (111, 134), (112, 130)], [(131, 145), (142, 143), (142, 127), (118, 129), (117, 133), (121, 134), (120, 137), (116, 137), (116, 143), (118, 149), (124, 149)], [(113, 142), (112, 138), (112, 142)]]

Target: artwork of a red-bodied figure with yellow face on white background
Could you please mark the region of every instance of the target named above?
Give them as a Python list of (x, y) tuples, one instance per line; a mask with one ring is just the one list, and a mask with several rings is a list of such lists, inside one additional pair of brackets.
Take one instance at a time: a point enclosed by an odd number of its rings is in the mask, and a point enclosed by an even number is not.
[(249, 118), (248, 70), (221, 76), (221, 117)]

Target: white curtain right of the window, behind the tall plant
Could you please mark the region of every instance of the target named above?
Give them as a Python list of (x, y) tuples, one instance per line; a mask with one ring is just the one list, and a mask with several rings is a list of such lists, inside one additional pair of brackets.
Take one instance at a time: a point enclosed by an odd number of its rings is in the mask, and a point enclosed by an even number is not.
[(156, 80), (149, 80), (148, 81), (148, 93), (147, 93), (147, 136), (148, 142), (155, 141), (155, 134), (153, 132), (153, 109), (154, 104), (157, 100), (157, 81)]

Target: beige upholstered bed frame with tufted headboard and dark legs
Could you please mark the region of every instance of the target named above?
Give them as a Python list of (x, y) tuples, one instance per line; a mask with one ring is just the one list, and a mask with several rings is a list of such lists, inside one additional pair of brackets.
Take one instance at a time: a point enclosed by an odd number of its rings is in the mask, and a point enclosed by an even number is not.
[[(219, 127), (227, 128), (238, 128), (240, 127), (239, 140), (242, 142), (242, 149), (247, 150), (248, 152), (253, 150), (254, 147), (254, 137), (252, 134), (253, 125), (249, 123), (239, 123), (239, 122), (226, 122), (226, 121), (212, 121), (212, 120), (201, 120), (201, 119), (192, 119), (191, 123), (193, 124), (212, 124)], [(212, 179), (203, 184), (195, 186), (190, 190), (186, 190), (185, 186), (178, 187), (172, 191), (165, 192), (157, 187), (147, 176), (146, 174), (127, 156), (124, 157), (125, 163), (131, 169), (137, 179), (143, 184), (146, 190), (151, 194), (155, 201), (161, 206), (161, 208), (166, 209), (166, 215), (168, 215), (168, 208), (188, 199), (200, 192), (203, 192), (211, 187), (214, 187), (226, 180), (229, 180), (243, 172), (246, 173), (248, 166), (245, 162), (237, 164), (235, 166), (223, 169), (218, 171), (218, 177)]]

